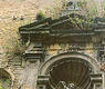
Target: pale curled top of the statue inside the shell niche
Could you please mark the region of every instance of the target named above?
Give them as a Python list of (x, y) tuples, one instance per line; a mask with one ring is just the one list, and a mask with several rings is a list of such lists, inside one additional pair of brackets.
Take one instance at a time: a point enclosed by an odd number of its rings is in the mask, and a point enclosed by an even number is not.
[(75, 88), (74, 88), (74, 83), (69, 83), (66, 86), (65, 81), (60, 81), (55, 87), (55, 89), (75, 89)]

